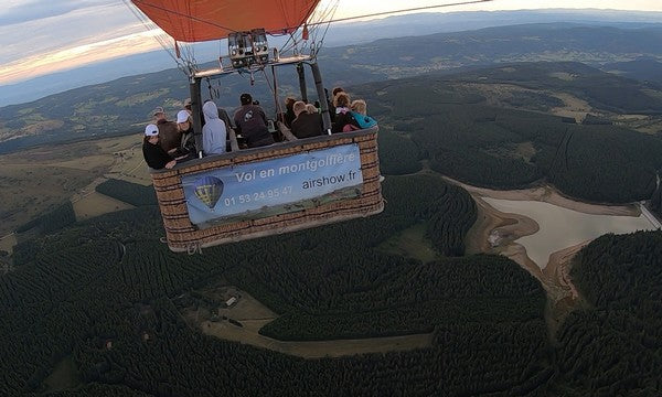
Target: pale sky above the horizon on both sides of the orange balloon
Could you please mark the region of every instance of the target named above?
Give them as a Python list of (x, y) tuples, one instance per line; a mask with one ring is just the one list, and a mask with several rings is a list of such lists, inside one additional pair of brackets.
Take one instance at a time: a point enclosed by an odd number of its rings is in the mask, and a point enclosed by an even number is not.
[[(456, 1), (461, 0), (339, 0), (334, 18)], [(148, 31), (122, 0), (2, 0), (2, 6), (0, 86), (160, 49), (160, 33)], [(662, 11), (662, 0), (492, 0), (434, 11), (545, 8)]]

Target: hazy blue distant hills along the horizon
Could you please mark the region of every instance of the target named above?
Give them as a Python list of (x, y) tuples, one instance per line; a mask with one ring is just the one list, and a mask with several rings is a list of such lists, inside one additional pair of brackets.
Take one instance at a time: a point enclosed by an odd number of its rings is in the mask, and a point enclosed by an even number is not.
[[(584, 25), (640, 29), (655, 26), (662, 13), (613, 10), (516, 10), (425, 12), (392, 15), (384, 19), (331, 24), (324, 39), (325, 47), (369, 43), (378, 39), (419, 36), (440, 32), (471, 31), (522, 23), (575, 22)], [(270, 40), (280, 46), (282, 41)], [(196, 45), (199, 60), (218, 56), (216, 43)], [(225, 44), (221, 44), (224, 46)], [(172, 60), (160, 50), (44, 75), (26, 82), (0, 86), (0, 106), (32, 101), (47, 95), (108, 82), (115, 78), (157, 72), (172, 66)]]

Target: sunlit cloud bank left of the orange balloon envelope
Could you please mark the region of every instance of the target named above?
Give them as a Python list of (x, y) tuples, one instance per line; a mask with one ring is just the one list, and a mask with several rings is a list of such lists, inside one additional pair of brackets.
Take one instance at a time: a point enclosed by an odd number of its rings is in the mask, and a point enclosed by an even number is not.
[(0, 18), (15, 23), (0, 24), (0, 85), (158, 46), (119, 0), (9, 1)]

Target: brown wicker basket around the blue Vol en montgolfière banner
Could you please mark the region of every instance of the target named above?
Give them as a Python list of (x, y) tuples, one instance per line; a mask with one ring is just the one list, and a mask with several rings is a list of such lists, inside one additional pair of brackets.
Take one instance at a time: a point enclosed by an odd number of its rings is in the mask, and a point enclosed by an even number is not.
[[(216, 225), (205, 229), (199, 229), (189, 219), (182, 187), (182, 176), (184, 175), (349, 143), (357, 143), (361, 153), (363, 189), (361, 195), (355, 198), (346, 198), (313, 208), (258, 219)], [(177, 253), (194, 251), (214, 245), (316, 227), (378, 214), (384, 210), (380, 183), (376, 126), (354, 132), (288, 141), (267, 148), (246, 149), (212, 155), (189, 161), (172, 170), (152, 171), (151, 176), (159, 200), (161, 216), (163, 217), (168, 246)]]

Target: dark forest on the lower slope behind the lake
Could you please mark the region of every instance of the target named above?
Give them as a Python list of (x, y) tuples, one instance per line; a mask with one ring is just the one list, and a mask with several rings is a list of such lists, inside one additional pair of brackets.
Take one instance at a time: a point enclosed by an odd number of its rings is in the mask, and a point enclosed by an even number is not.
[[(528, 82), (543, 73), (541, 68), (551, 73), (556, 66), (517, 65), (511, 68), (519, 72), (522, 67), (522, 73), (511, 71), (509, 75)], [(536, 73), (527, 77), (530, 68)], [(490, 74), (495, 71), (477, 75), (499, 82)], [(659, 137), (494, 107), (479, 90), (459, 85), (468, 79), (465, 75), (429, 76), (354, 88), (355, 96), (369, 100), (374, 117), (393, 126), (381, 138), (385, 171), (413, 172), (420, 168), (420, 160), (427, 160), (441, 174), (485, 187), (509, 190), (547, 182), (569, 196), (606, 203), (652, 196), (655, 174), (662, 169)], [(552, 99), (547, 105), (535, 104), (546, 110), (555, 106)]]

